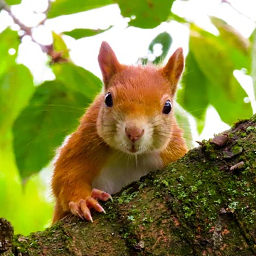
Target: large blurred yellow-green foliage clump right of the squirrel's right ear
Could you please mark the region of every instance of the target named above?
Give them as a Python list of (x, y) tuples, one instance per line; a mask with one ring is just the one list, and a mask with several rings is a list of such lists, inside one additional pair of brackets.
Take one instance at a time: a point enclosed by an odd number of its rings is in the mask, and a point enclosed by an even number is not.
[(198, 119), (199, 131), (203, 129), (208, 105), (215, 107), (227, 124), (252, 114), (251, 105), (244, 102), (247, 94), (233, 75), (234, 70), (250, 70), (249, 51), (235, 44), (238, 41), (235, 33), (222, 31), (222, 35), (215, 36), (191, 26), (186, 58), (186, 70), (191, 72), (183, 75), (178, 102)]

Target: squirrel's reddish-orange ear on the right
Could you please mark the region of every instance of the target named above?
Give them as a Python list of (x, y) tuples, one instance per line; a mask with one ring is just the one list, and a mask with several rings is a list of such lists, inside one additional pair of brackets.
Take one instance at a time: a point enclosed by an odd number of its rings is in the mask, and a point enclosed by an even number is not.
[(171, 90), (173, 94), (176, 92), (178, 80), (181, 77), (184, 68), (184, 57), (182, 48), (178, 48), (168, 63), (162, 68), (162, 73), (171, 82)]

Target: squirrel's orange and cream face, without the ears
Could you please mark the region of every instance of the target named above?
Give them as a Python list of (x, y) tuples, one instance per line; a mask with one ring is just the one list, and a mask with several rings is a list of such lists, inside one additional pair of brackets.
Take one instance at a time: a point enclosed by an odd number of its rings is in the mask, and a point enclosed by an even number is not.
[(127, 154), (164, 149), (172, 134), (172, 97), (159, 70), (129, 67), (114, 76), (102, 97), (98, 134)]

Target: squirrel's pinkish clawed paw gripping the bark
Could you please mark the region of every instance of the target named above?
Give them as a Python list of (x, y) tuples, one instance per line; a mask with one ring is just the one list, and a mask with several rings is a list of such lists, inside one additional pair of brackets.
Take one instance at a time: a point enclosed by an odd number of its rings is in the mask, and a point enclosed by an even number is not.
[(109, 199), (112, 200), (112, 196), (110, 196), (110, 194), (107, 192), (93, 188), (90, 196), (87, 196), (85, 200), (80, 199), (78, 203), (70, 202), (68, 206), (70, 207), (70, 211), (73, 213), (73, 215), (76, 215), (81, 219), (85, 218), (86, 220), (90, 220), (92, 222), (90, 208), (94, 208), (99, 213), (105, 213), (105, 210), (102, 208), (102, 206), (100, 206), (100, 203), (97, 201), (97, 199), (101, 201), (107, 201)]

